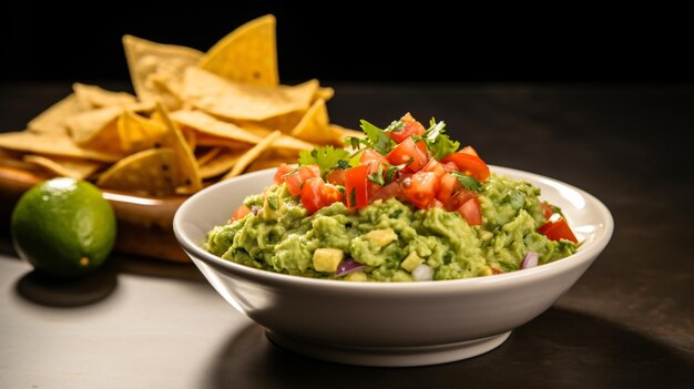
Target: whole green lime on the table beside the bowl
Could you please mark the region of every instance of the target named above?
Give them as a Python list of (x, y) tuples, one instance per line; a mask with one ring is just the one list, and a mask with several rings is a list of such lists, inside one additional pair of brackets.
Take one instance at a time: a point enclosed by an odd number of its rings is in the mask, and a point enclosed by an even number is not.
[(34, 185), (12, 212), (19, 255), (38, 270), (76, 277), (95, 270), (115, 242), (115, 216), (96, 186), (73, 178)]

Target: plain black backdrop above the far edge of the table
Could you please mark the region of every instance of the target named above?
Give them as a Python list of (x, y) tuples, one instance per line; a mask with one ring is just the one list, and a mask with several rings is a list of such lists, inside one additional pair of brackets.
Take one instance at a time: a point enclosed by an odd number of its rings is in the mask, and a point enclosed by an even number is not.
[(365, 82), (692, 81), (688, 13), (635, 6), (609, 10), (500, 3), (458, 10), (378, 8), (375, 2), (226, 1), (159, 6), (13, 2), (1, 18), (0, 81), (125, 81), (121, 37), (207, 50), (236, 27), (277, 17), (284, 82), (318, 78)]

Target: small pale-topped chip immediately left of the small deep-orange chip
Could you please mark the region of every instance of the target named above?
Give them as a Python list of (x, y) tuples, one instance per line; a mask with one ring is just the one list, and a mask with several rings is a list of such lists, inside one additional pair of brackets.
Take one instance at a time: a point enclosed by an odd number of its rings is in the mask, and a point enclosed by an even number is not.
[(70, 117), (67, 124), (72, 140), (84, 149), (122, 154), (123, 147), (118, 129), (122, 111), (120, 106), (104, 106)]

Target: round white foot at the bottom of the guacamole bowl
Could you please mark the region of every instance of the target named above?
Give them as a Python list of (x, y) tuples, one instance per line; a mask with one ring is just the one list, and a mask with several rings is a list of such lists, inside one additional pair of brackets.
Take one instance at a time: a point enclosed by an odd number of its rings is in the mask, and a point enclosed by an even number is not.
[(356, 347), (298, 339), (271, 330), (265, 334), (273, 344), (316, 359), (358, 366), (408, 367), (477, 357), (501, 346), (511, 331), (481, 339), (419, 347)]

